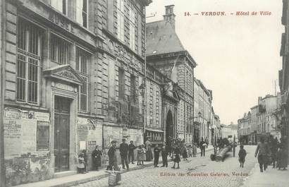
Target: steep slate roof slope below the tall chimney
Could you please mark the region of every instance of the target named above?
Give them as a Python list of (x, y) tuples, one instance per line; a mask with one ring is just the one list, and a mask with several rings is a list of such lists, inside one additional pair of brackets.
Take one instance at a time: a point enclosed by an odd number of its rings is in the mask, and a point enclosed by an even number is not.
[(185, 48), (171, 23), (165, 20), (147, 23), (147, 56), (183, 51)]

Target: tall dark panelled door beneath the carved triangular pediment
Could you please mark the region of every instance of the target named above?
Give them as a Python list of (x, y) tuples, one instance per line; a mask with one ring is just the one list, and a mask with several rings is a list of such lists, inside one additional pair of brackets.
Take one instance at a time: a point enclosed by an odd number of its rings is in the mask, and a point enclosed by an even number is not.
[(55, 172), (69, 169), (69, 108), (68, 98), (54, 98)]

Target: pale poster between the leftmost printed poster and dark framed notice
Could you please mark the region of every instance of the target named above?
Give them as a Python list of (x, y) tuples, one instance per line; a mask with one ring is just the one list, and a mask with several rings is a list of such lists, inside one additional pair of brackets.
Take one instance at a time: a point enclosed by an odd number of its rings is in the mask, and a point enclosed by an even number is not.
[(22, 151), (36, 152), (36, 126), (35, 119), (21, 119), (22, 121)]

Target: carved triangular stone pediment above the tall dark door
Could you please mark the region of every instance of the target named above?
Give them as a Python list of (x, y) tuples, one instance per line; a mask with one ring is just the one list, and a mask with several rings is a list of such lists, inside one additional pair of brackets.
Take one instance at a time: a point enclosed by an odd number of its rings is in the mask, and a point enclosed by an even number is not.
[(43, 71), (46, 78), (55, 78), (75, 85), (82, 85), (83, 80), (69, 64), (56, 66)]

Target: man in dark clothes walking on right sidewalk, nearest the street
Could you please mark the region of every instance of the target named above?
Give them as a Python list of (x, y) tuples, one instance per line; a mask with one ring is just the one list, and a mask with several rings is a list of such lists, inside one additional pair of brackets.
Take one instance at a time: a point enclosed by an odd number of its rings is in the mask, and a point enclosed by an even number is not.
[(269, 152), (268, 144), (265, 143), (264, 137), (261, 137), (255, 152), (255, 157), (258, 156), (257, 159), (259, 162), (261, 172), (263, 172), (263, 170), (266, 171), (267, 169), (266, 157), (268, 155), (268, 152)]

